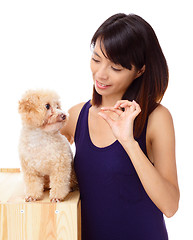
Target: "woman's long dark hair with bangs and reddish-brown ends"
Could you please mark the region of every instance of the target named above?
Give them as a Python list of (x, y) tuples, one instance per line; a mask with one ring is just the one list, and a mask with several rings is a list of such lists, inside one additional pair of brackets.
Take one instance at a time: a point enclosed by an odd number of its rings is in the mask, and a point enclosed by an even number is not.
[[(103, 44), (103, 54), (113, 63), (129, 70), (132, 65), (145, 72), (128, 87), (123, 100), (135, 100), (141, 113), (135, 120), (134, 135), (141, 134), (147, 117), (161, 102), (168, 86), (168, 66), (153, 28), (134, 14), (115, 14), (95, 32), (91, 46), (97, 39)], [(102, 96), (93, 88), (92, 105), (100, 106)]]

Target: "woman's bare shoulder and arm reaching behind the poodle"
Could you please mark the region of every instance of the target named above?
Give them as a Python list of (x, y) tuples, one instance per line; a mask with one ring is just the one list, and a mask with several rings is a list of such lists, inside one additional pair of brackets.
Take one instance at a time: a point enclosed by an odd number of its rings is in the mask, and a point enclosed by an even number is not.
[(68, 110), (68, 118), (65, 126), (61, 129), (61, 134), (65, 135), (68, 141), (72, 144), (74, 142), (74, 134), (76, 130), (76, 123), (78, 121), (78, 117), (82, 107), (85, 102), (78, 103), (71, 107)]

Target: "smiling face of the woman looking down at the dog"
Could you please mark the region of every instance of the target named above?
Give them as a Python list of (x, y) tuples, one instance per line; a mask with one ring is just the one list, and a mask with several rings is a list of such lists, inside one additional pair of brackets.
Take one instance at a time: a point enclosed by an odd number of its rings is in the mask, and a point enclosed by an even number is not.
[[(106, 55), (104, 50), (103, 52)], [(90, 66), (95, 90), (102, 96), (121, 99), (129, 85), (139, 76), (134, 66), (129, 70), (106, 58), (101, 51), (99, 40), (96, 41)]]

